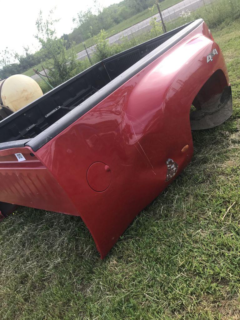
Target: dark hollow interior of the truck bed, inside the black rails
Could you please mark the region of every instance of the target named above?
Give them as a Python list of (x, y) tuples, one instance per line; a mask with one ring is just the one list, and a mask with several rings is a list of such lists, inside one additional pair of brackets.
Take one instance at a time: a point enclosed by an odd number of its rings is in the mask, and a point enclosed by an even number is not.
[(189, 24), (98, 62), (8, 116), (0, 122), (0, 143), (36, 137)]

